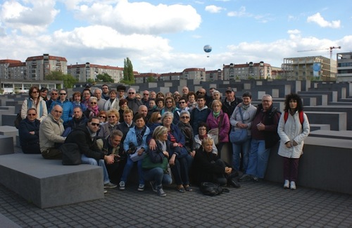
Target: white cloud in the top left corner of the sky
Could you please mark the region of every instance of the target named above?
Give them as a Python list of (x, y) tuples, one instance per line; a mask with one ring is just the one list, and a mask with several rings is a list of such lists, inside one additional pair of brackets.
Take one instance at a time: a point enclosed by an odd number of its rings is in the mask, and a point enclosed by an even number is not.
[(0, 6), (0, 20), (12, 30), (25, 34), (38, 34), (46, 30), (59, 13), (54, 0), (5, 1)]

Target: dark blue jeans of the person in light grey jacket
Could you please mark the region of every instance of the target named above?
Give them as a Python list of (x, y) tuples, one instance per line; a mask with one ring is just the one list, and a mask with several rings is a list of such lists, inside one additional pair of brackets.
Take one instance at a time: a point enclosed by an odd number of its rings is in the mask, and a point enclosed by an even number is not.
[[(246, 172), (249, 162), (249, 148), (251, 148), (251, 138), (243, 144), (232, 144), (232, 167), (235, 170), (239, 171), (242, 158), (243, 170)], [(240, 154), (241, 158), (239, 157)]]

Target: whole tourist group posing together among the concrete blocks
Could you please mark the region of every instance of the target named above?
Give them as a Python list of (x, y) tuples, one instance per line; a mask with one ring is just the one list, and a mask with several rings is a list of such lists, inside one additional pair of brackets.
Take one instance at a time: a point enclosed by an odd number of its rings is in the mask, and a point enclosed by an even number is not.
[[(215, 88), (173, 94), (127, 90), (123, 85), (90, 90), (90, 84), (68, 99), (65, 89), (30, 88), (23, 102), (19, 135), (23, 153), (42, 153), (46, 159), (61, 158), (60, 146), (75, 143), (82, 163), (103, 168), (104, 192), (127, 187), (137, 163), (138, 191), (146, 182), (158, 196), (163, 185), (175, 182), (176, 190), (193, 191), (191, 184), (216, 182), (239, 188), (238, 181), (263, 179), (270, 148), (279, 145), (283, 157), (284, 188), (296, 189), (298, 160), (309, 122), (301, 98), (289, 94), (284, 113), (265, 94), (258, 106), (250, 91), (241, 98), (232, 88), (225, 99)], [(246, 139), (230, 141), (234, 131)], [(221, 159), (222, 146), (232, 151), (232, 164)], [(152, 163), (152, 165), (151, 165)], [(243, 174), (243, 175), (241, 175)], [(172, 180), (173, 179), (173, 180)]]

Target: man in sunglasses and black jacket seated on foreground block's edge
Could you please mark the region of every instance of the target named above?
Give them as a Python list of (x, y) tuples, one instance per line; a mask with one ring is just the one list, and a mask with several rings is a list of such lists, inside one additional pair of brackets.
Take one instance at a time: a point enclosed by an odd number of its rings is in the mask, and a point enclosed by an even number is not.
[(105, 163), (108, 165), (113, 164), (115, 156), (113, 156), (113, 154), (106, 155), (96, 144), (96, 132), (98, 132), (99, 127), (99, 118), (92, 116), (89, 118), (87, 125), (77, 127), (77, 129), (70, 132), (65, 143), (77, 144), (80, 149), (83, 164), (99, 165), (102, 167), (104, 189), (113, 189), (117, 185), (110, 182)]

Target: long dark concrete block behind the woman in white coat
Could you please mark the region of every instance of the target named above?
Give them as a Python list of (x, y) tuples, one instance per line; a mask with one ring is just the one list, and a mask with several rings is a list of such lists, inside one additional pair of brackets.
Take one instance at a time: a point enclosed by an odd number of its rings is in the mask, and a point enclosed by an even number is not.
[[(352, 194), (352, 144), (346, 139), (308, 137), (298, 167), (298, 187)], [(272, 148), (265, 179), (284, 183), (282, 157)]]

